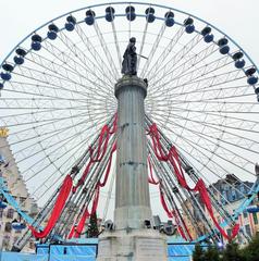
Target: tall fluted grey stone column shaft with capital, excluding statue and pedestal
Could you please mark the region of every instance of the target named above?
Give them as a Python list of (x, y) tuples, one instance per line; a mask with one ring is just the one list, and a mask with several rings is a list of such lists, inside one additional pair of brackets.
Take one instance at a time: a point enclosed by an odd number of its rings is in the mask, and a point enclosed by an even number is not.
[(116, 229), (143, 228), (151, 220), (144, 99), (147, 85), (124, 76), (115, 85), (118, 149), (114, 224)]

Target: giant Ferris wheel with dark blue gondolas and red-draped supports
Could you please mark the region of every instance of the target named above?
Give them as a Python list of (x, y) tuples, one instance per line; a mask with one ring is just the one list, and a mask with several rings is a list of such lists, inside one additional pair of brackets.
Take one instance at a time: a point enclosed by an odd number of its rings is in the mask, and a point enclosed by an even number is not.
[[(213, 211), (237, 229), (236, 219), (259, 191), (255, 173), (258, 69), (242, 47), (210, 23), (171, 7), (143, 2), (95, 4), (63, 14), (25, 37), (2, 62), (0, 126), (9, 128), (15, 163), (41, 206), (35, 221), (24, 219), (36, 229), (50, 219), (51, 209), (61, 208), (66, 211), (49, 232), (78, 236), (69, 225), (83, 224), (98, 209), (99, 196), (107, 203), (112, 198), (114, 85), (131, 37), (136, 38), (138, 76), (148, 83), (149, 182), (158, 187), (151, 188), (152, 203), (157, 206), (160, 197), (187, 240), (195, 238), (183, 216), (194, 224), (197, 217), (184, 207), (186, 200), (193, 200), (203, 220), (197, 240), (215, 231), (224, 233)], [(231, 174), (249, 189), (235, 213), (220, 202), (227, 198), (214, 186), (222, 179), (237, 190), (227, 181)], [(245, 181), (255, 185), (247, 187)], [(73, 192), (65, 191), (64, 184)], [(57, 207), (60, 191), (66, 200)], [(197, 194), (203, 201), (209, 198), (203, 204), (210, 217)], [(30, 235), (27, 229), (17, 247)]]

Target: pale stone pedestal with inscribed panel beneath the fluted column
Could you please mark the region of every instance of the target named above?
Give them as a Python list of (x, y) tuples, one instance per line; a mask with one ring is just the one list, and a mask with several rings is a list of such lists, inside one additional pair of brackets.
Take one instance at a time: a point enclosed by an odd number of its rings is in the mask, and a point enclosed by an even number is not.
[(106, 232), (97, 261), (166, 261), (166, 236), (153, 229)]

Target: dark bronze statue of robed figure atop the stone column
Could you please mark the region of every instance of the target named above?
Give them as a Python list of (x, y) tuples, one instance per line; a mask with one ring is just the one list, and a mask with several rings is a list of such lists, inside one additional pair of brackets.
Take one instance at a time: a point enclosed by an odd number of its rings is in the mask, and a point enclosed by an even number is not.
[(136, 38), (132, 37), (123, 54), (122, 74), (137, 75)]

